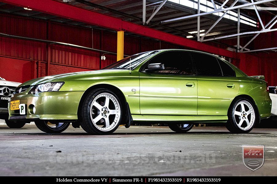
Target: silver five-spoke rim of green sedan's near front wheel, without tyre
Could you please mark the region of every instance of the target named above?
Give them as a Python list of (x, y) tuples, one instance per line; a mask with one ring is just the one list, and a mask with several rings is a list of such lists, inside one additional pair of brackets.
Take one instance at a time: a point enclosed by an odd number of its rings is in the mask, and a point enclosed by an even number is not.
[(120, 120), (118, 100), (110, 93), (98, 94), (90, 105), (90, 119), (94, 126), (104, 132), (115, 128)]

